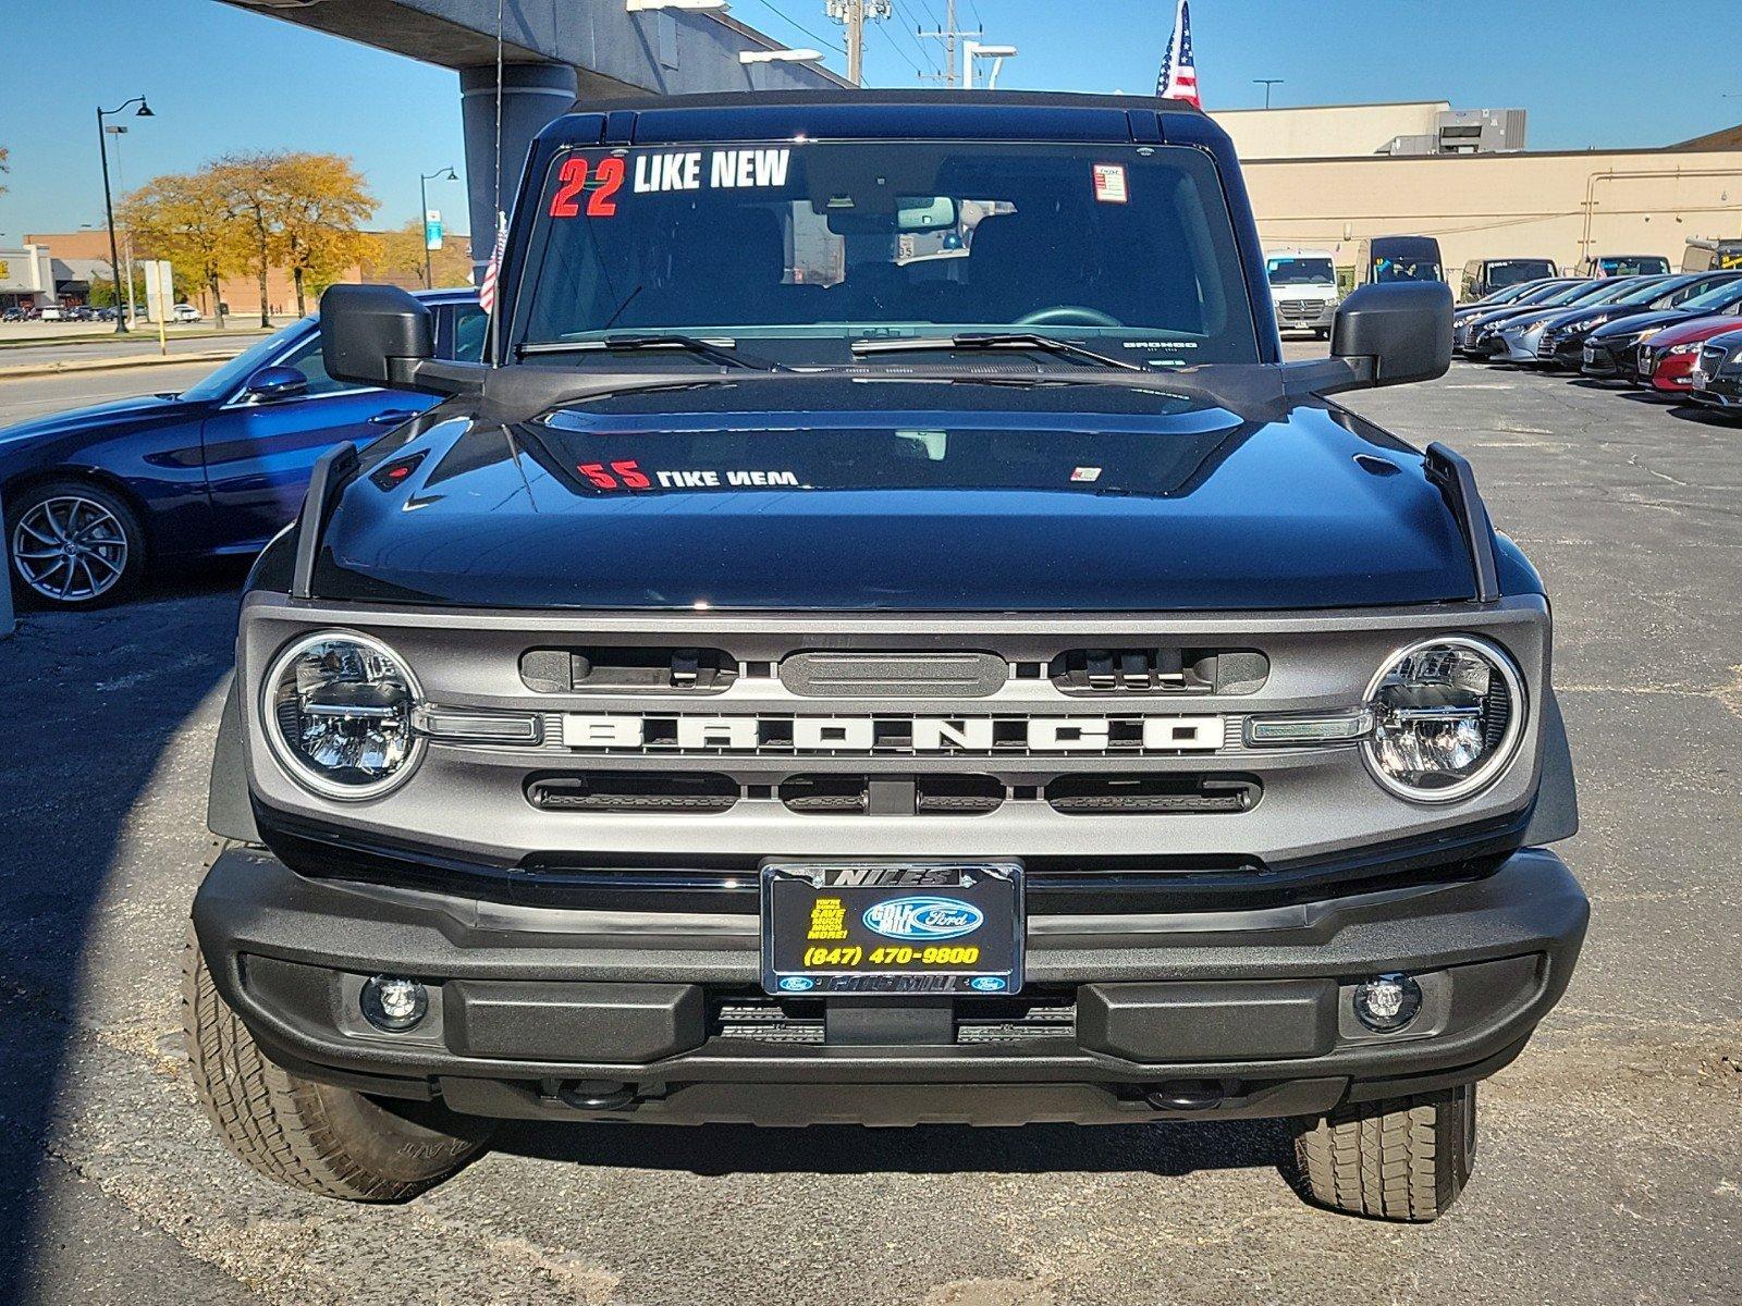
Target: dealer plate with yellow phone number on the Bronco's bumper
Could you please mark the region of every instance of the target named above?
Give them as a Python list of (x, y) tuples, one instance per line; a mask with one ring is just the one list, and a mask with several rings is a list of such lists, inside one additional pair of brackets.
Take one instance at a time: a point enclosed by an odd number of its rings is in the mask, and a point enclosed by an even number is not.
[(760, 926), (775, 996), (1003, 998), (1023, 987), (1023, 864), (770, 858)]

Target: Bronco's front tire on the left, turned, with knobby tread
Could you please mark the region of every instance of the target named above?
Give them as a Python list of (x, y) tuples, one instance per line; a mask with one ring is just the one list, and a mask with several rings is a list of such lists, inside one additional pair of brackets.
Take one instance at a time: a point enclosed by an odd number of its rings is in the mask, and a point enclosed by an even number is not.
[(181, 954), (181, 1033), (218, 1135), (280, 1184), (347, 1202), (406, 1202), (488, 1146), (488, 1121), (439, 1106), (383, 1106), (273, 1066), (213, 987), (192, 926)]

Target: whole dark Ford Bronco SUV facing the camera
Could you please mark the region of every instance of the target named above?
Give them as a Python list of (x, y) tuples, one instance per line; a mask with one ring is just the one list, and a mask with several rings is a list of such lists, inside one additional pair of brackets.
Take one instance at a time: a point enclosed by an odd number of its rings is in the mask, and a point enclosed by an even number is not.
[(1587, 902), (1549, 603), (1470, 467), (1284, 362), (1171, 103), (613, 103), (537, 139), (488, 362), (392, 287), (242, 601), (186, 1033), (226, 1142), (397, 1200), (503, 1118), (1286, 1116), (1427, 1221)]

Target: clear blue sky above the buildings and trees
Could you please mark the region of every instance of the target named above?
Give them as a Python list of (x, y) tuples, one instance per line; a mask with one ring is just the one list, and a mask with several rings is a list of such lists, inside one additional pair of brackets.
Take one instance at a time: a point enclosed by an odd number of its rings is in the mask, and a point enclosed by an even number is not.
[[(563, 0), (615, 3), (617, 0)], [(1127, 91), (1155, 85), (1171, 0), (960, 0), (963, 26), (1021, 47), (1000, 85)], [(1721, 7), (1719, 7), (1721, 9)], [(913, 85), (941, 59), (944, 0), (895, 0), (868, 38), (868, 80)], [(1193, 0), (1209, 108), (1451, 99), (1529, 110), (1536, 150), (1651, 146), (1742, 120), (1742, 64), (1718, 9), (1653, 16), (1639, 0)], [(732, 14), (791, 44), (838, 40), (822, 0), (733, 0)], [(784, 17), (782, 17), (784, 14)], [(1707, 24), (1707, 40), (1698, 40)], [(381, 200), (376, 223), (416, 214), (418, 172), (463, 171), (453, 73), (216, 0), (5, 0), (0, 145), (12, 151), (0, 242), (103, 218), (96, 99), (141, 91), (159, 117), (129, 120), (129, 186), (228, 150), (352, 155)], [(829, 64), (843, 59), (829, 50)], [(101, 89), (101, 96), (99, 96)], [(430, 204), (463, 225), (460, 186)]]

